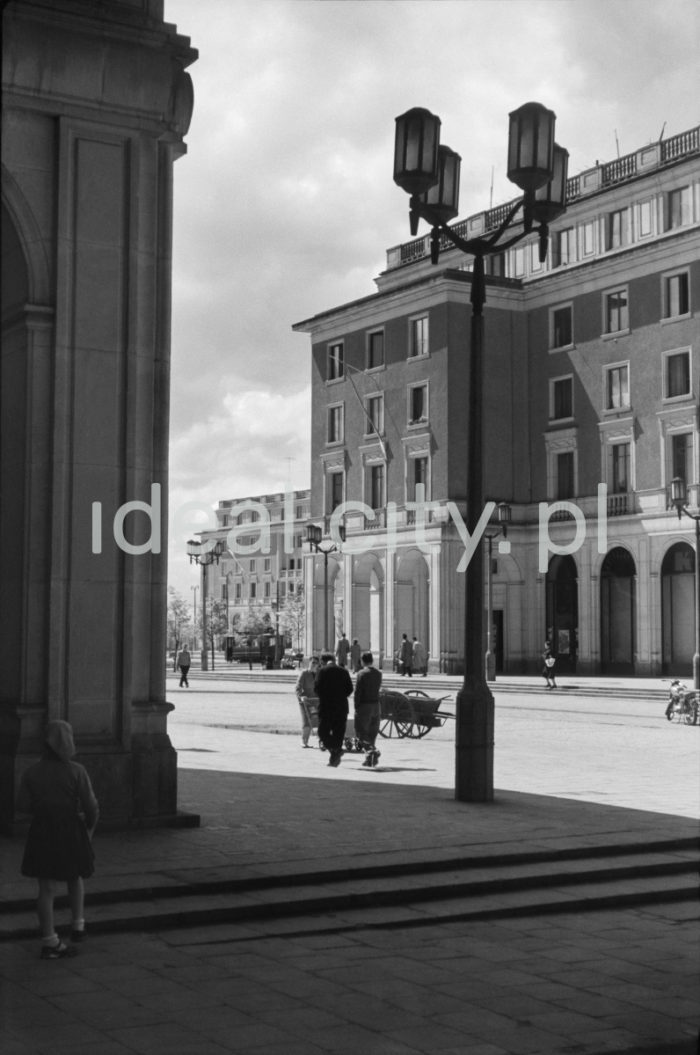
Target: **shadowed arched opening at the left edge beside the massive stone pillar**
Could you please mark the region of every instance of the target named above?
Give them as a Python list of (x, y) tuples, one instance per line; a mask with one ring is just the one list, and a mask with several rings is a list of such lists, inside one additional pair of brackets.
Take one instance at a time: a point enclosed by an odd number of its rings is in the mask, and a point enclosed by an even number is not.
[(2, 207), (2, 342), (0, 352), (0, 637), (2, 696), (22, 695), (22, 626), (26, 546), (27, 329), (26, 258), (15, 223)]

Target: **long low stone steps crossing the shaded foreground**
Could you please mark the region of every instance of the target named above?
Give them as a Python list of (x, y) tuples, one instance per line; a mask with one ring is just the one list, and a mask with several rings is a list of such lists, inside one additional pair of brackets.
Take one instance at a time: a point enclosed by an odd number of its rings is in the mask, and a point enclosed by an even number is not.
[[(538, 915), (622, 904), (696, 899), (697, 860), (688, 849), (608, 853), (562, 860), (469, 862), (440, 870), (402, 875), (396, 868), (343, 868), (303, 877), (167, 885), (103, 891), (89, 900), (93, 933), (250, 924), (324, 914), (336, 925), (357, 920), (481, 919)], [(105, 896), (108, 895), (109, 896)], [(346, 921), (337, 924), (337, 920)], [(352, 922), (354, 920), (354, 922)], [(36, 917), (26, 900), (7, 904), (0, 918), (0, 940), (32, 937)]]

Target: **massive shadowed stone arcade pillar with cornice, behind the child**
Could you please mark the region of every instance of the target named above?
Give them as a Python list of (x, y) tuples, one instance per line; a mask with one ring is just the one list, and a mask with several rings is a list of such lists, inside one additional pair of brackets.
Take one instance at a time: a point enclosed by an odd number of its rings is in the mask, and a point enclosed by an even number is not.
[(104, 823), (188, 823), (168, 735), (166, 523), (173, 164), (196, 54), (162, 0), (3, 7), (5, 830), (58, 717)]

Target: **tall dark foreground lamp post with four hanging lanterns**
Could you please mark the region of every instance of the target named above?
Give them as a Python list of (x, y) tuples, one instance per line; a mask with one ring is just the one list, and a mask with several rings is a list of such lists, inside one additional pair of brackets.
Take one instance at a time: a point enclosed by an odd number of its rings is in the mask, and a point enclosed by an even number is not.
[[(566, 209), (568, 153), (555, 142), (555, 114), (527, 102), (510, 114), (508, 178), (524, 196), (508, 209), (503, 223), (478, 238), (463, 238), (448, 226), (459, 212), (459, 154), (440, 143), (441, 120), (427, 110), (409, 110), (396, 118), (394, 181), (410, 199), (411, 234), (420, 219), (432, 227), (433, 264), (449, 243), (473, 257), (467, 426), (467, 530), (474, 535), (483, 506), (483, 307), (484, 261), (520, 242), (537, 224), (540, 260), (547, 254), (548, 225)], [(522, 211), (522, 223), (517, 219)], [(463, 802), (493, 799), (493, 696), (484, 671), (484, 576), (474, 553), (465, 576), (464, 683), (456, 697), (455, 798)]]

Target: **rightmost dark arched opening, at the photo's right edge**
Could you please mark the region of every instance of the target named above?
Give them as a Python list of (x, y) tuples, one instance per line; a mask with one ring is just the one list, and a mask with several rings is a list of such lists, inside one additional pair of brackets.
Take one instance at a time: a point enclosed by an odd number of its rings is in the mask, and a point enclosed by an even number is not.
[(661, 564), (661, 669), (687, 677), (695, 651), (695, 552), (676, 542)]

